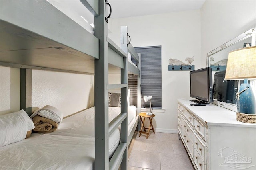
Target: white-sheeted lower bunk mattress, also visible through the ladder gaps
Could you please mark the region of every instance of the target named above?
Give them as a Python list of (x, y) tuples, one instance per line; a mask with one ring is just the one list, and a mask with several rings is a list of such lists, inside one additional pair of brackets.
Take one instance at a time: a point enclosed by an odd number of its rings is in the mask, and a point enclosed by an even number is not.
[[(135, 121), (134, 107), (128, 107), (128, 131)], [(118, 114), (119, 107), (109, 107), (109, 122)], [(110, 157), (119, 141), (120, 129), (116, 129), (109, 137)], [(52, 133), (32, 133), (27, 139), (0, 147), (0, 169), (93, 170), (94, 148), (94, 108), (90, 108), (63, 119)]]

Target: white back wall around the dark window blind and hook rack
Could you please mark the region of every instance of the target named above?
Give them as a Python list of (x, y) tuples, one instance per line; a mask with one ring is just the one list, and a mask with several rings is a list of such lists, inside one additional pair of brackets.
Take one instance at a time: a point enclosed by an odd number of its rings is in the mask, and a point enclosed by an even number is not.
[[(200, 10), (173, 12), (150, 16), (112, 19), (109, 34), (120, 44), (120, 26), (128, 26), (134, 47), (162, 46), (162, 108), (156, 113), (153, 125), (156, 131), (177, 133), (177, 98), (189, 98), (189, 72), (168, 71), (170, 58), (185, 62), (186, 57), (195, 57), (195, 68), (201, 63)], [(153, 96), (154, 97), (154, 96)]]

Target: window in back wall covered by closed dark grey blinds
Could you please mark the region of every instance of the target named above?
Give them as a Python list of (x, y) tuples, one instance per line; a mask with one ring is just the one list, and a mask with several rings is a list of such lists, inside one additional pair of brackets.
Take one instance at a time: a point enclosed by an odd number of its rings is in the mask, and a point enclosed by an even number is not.
[[(144, 103), (143, 96), (152, 96), (152, 107), (162, 108), (161, 46), (134, 49), (137, 53), (141, 53), (141, 106), (150, 107), (150, 102)], [(137, 64), (133, 59), (132, 62)]]

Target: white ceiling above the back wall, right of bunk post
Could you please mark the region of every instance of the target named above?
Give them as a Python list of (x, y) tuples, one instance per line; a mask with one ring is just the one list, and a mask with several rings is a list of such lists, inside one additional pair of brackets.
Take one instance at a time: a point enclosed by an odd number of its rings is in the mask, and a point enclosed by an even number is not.
[(108, 0), (112, 6), (111, 18), (124, 18), (197, 10), (206, 0)]

